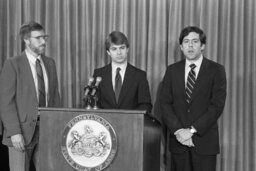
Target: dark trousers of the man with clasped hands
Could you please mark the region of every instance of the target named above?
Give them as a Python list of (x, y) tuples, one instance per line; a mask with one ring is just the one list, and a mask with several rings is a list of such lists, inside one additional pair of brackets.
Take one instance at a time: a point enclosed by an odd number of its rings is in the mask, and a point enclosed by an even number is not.
[(191, 149), (171, 153), (171, 171), (216, 171), (216, 155), (200, 155)]

